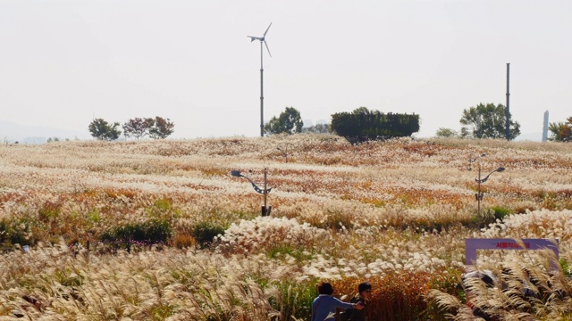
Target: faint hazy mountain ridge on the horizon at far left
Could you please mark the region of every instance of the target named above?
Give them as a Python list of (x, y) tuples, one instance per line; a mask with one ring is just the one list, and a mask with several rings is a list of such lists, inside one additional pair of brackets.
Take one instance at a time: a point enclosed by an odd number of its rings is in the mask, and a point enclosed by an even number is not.
[(57, 137), (61, 140), (91, 138), (87, 130), (82, 132), (62, 128), (21, 125), (13, 121), (0, 119), (0, 140), (2, 142), (43, 144), (46, 143), (47, 139), (50, 137)]

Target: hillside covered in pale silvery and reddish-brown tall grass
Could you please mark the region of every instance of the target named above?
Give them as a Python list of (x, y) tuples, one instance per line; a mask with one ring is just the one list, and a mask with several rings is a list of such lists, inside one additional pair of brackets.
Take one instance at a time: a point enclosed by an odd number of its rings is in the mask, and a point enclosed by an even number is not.
[[(481, 185), (477, 213), (479, 166), (505, 170)], [(259, 186), (267, 169), (271, 217), (235, 169)], [(350, 295), (368, 280), (376, 316), (442, 317), (425, 294), (462, 303), (467, 237), (558, 238), (568, 273), (571, 169), (572, 144), (488, 140), (1, 145), (0, 315), (307, 319), (318, 281)]]

